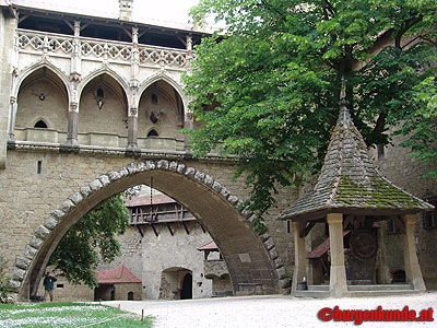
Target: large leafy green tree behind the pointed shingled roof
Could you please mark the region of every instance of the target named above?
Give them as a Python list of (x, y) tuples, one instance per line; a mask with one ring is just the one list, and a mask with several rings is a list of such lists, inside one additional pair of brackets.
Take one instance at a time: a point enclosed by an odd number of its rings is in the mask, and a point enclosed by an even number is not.
[[(237, 155), (262, 216), (276, 186), (320, 169), (339, 113), (342, 77), (367, 144), (386, 144), (421, 102), (414, 86), (435, 73), (435, 0), (200, 0), (196, 21), (224, 30), (202, 39), (185, 77), (196, 155), (217, 144)], [(422, 103), (426, 99), (422, 99)], [(410, 120), (411, 121), (411, 120)], [(403, 129), (409, 133), (412, 129)]]

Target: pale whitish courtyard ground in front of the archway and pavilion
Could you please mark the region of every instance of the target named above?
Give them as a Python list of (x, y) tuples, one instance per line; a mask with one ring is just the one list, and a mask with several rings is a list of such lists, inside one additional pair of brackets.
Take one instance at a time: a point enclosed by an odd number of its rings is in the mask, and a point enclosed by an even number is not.
[[(356, 298), (298, 298), (291, 296), (252, 296), (203, 298), (185, 301), (111, 301), (104, 304), (141, 315), (155, 317), (154, 328), (281, 328), (281, 327), (359, 327), (352, 321), (322, 321), (317, 314), (321, 308), (339, 306), (341, 309), (403, 309), (409, 306), (420, 313), (422, 309), (437, 309), (437, 292), (420, 295), (373, 296)], [(376, 327), (437, 327), (426, 323), (363, 323), (365, 328)]]

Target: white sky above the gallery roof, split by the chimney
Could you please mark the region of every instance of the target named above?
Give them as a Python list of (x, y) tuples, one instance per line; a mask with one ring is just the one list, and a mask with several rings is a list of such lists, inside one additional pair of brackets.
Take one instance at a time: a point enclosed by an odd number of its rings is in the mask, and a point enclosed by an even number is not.
[[(118, 13), (118, 0), (34, 0), (71, 8)], [(188, 10), (199, 0), (133, 0), (133, 16), (187, 24)]]

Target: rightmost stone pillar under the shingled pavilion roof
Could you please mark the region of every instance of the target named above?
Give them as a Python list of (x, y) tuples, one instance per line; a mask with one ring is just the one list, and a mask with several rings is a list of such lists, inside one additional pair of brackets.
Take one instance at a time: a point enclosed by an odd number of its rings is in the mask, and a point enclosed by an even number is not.
[(405, 223), (405, 233), (403, 239), (403, 261), (405, 268), (406, 280), (413, 284), (418, 291), (426, 291), (424, 280), (422, 278), (421, 266), (416, 255), (416, 246), (414, 243), (414, 229), (417, 221), (416, 214), (408, 214), (402, 216)]

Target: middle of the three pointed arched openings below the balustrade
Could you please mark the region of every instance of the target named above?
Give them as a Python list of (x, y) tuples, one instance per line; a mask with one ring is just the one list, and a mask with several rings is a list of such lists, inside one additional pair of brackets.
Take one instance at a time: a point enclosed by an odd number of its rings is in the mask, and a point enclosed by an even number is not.
[(107, 73), (84, 85), (80, 98), (78, 138), (81, 144), (127, 145), (128, 101), (123, 87)]

